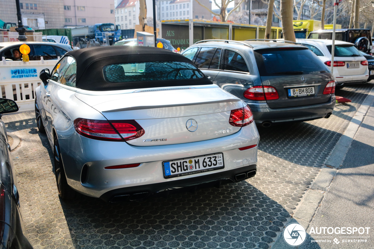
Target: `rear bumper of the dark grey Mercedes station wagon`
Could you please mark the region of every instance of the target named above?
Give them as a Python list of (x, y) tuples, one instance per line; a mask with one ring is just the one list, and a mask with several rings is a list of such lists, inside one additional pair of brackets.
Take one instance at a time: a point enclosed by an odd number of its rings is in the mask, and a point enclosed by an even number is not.
[(256, 124), (263, 122), (281, 123), (320, 119), (332, 113), (335, 107), (335, 95), (323, 104), (289, 108), (269, 108), (266, 103), (247, 103), (251, 108)]

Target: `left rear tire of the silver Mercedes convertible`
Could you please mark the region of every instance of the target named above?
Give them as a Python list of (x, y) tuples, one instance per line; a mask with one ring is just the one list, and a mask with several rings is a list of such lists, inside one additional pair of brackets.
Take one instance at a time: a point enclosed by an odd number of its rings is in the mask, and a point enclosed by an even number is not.
[(56, 184), (58, 189), (58, 196), (62, 200), (74, 200), (77, 192), (74, 191), (69, 185), (66, 180), (64, 166), (62, 164), (61, 160), (61, 153), (60, 153), (60, 147), (58, 144), (58, 139), (55, 134), (55, 139), (53, 143), (53, 156), (55, 160), (55, 175), (56, 175)]

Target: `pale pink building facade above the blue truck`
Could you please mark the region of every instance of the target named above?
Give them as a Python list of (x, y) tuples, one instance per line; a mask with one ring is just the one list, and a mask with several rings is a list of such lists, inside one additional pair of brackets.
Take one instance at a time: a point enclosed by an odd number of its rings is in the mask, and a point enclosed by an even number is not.
[(114, 1), (63, 0), (64, 27), (114, 24)]

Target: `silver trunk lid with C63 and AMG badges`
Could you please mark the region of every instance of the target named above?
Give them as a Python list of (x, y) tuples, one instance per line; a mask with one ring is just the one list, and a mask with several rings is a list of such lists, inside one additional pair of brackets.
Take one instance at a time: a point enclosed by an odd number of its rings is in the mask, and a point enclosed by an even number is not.
[(95, 95), (76, 93), (76, 97), (108, 120), (135, 120), (140, 124), (144, 135), (126, 141), (137, 146), (179, 144), (231, 135), (240, 130), (229, 123), (231, 110), (243, 107), (240, 99), (217, 86), (142, 89), (101, 95), (99, 103)]

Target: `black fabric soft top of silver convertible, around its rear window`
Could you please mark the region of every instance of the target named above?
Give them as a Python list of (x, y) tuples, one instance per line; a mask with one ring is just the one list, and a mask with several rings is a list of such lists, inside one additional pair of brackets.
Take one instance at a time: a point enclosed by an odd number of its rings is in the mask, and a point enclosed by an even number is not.
[[(65, 56), (72, 56), (77, 61), (76, 87), (85, 90), (122, 90), (132, 88), (154, 87), (154, 82), (139, 83), (109, 83), (105, 81), (102, 68), (110, 64), (137, 63), (149, 61), (181, 61), (193, 64), (190, 59), (178, 53), (171, 52), (167, 49), (157, 47), (141, 46), (101, 46), (78, 49), (67, 52)], [(157, 86), (183, 86), (183, 85), (200, 85), (212, 84), (204, 76), (202, 79), (193, 79), (193, 82), (187, 80), (168, 80), (159, 82)]]

